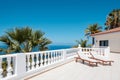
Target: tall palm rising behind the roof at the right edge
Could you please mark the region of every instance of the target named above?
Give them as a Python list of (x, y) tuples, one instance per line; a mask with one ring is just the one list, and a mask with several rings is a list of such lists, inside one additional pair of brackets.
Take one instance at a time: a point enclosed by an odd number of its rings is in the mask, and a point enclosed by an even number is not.
[(109, 13), (105, 25), (105, 30), (120, 27), (120, 9), (113, 10)]

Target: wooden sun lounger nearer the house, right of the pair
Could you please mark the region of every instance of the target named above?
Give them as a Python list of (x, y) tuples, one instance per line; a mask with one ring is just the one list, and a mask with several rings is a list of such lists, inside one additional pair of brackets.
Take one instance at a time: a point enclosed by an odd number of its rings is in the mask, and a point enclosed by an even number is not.
[(92, 59), (101, 61), (101, 63), (103, 65), (105, 65), (105, 64), (111, 65), (111, 63), (114, 62), (113, 60), (110, 60), (109, 58), (106, 58), (106, 57), (101, 56), (101, 55), (97, 55), (95, 52), (90, 52), (90, 54), (92, 56)]

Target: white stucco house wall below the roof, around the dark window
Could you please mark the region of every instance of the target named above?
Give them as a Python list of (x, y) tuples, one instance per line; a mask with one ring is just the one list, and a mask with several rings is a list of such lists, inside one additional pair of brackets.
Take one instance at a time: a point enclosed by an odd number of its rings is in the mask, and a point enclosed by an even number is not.
[(110, 51), (120, 52), (120, 32), (101, 34), (93, 36), (95, 38), (95, 46), (99, 47), (100, 40), (108, 40)]

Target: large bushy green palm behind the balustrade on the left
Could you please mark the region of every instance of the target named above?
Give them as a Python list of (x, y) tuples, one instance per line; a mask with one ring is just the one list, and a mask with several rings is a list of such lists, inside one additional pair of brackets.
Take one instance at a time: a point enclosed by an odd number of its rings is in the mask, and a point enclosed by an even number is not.
[(51, 41), (47, 38), (44, 39), (44, 34), (39, 30), (33, 31), (29, 27), (11, 29), (0, 37), (0, 41), (7, 46), (7, 49), (0, 48), (0, 51), (7, 53), (31, 52), (34, 48), (40, 47), (42, 43), (45, 43), (42, 47), (47, 49), (47, 45)]

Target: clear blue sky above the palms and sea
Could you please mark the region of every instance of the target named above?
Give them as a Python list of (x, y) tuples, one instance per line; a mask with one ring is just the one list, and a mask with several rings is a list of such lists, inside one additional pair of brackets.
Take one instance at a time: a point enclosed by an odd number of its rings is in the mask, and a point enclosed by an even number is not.
[(75, 43), (88, 25), (104, 27), (107, 14), (120, 0), (0, 0), (0, 35), (7, 29), (30, 26), (53, 43)]

